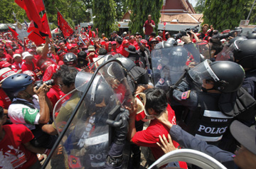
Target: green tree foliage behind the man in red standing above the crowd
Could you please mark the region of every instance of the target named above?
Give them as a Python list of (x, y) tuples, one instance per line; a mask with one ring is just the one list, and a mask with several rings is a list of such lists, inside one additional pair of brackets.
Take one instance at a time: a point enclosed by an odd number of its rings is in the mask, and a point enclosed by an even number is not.
[(152, 20), (156, 23), (155, 31), (157, 31), (163, 0), (128, 0), (127, 2), (129, 9), (132, 11), (131, 22), (129, 23), (129, 29), (132, 34), (139, 32), (143, 35), (142, 28), (149, 14), (151, 14)]

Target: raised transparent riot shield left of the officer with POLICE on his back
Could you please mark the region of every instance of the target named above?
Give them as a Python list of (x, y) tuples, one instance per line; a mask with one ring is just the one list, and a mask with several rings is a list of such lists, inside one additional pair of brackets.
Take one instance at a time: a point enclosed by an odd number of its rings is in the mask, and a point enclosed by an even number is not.
[(210, 58), (208, 43), (189, 43), (186, 45), (161, 48), (151, 51), (154, 86), (164, 89), (176, 84), (186, 68), (192, 68)]

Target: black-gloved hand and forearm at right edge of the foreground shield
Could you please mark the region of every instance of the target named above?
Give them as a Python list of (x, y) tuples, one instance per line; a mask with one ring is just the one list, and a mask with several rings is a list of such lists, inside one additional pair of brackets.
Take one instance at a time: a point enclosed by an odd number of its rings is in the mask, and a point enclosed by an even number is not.
[(127, 133), (129, 130), (129, 111), (124, 111), (123, 113), (119, 114), (119, 119), (122, 120), (122, 124), (120, 127), (115, 128), (115, 138), (114, 143), (117, 144), (124, 144), (127, 138)]

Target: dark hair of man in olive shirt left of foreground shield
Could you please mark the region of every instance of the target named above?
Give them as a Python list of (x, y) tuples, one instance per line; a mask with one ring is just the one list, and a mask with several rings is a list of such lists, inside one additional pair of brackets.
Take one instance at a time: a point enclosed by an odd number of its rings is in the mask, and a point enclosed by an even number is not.
[(70, 84), (75, 83), (75, 76), (78, 74), (78, 70), (75, 67), (61, 65), (54, 77), (62, 78), (63, 84), (70, 87)]

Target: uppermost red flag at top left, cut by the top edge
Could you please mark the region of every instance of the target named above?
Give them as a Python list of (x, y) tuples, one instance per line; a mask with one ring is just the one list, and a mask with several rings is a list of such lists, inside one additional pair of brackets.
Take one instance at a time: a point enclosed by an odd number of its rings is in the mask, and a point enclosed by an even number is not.
[(39, 16), (39, 12), (45, 9), (42, 0), (15, 0), (18, 6), (21, 6), (22, 9), (26, 11), (28, 19), (33, 20), (38, 28), (41, 30), (42, 23), (41, 17)]

